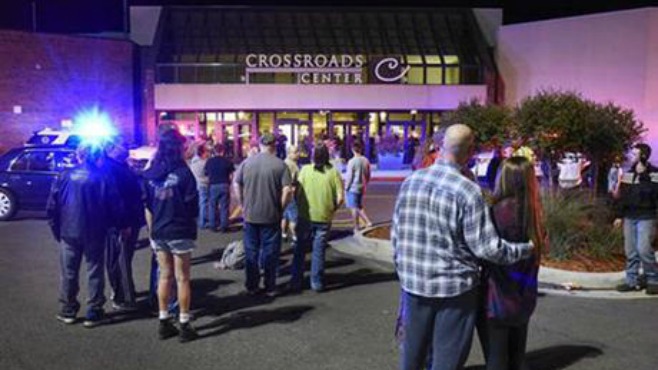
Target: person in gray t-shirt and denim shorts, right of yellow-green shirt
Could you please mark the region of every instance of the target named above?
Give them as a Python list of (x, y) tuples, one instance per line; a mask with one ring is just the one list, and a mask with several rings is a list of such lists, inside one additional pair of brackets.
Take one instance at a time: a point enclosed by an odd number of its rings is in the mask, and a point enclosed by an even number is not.
[(367, 227), (372, 226), (372, 222), (370, 222), (363, 207), (363, 195), (370, 181), (370, 161), (363, 156), (363, 144), (360, 141), (356, 141), (352, 145), (352, 152), (354, 157), (347, 162), (345, 199), (347, 199), (347, 208), (352, 211), (354, 232), (356, 233), (359, 230), (360, 218), (363, 219)]

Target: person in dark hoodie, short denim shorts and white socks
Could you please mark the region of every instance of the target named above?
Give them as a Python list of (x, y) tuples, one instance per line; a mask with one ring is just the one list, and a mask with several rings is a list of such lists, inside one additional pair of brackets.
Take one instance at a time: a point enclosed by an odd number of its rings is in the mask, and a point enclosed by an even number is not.
[[(160, 268), (158, 335), (167, 339), (178, 334), (180, 341), (186, 342), (197, 337), (190, 325), (190, 256), (197, 238), (199, 195), (194, 175), (183, 157), (183, 144), (184, 138), (178, 131), (164, 132), (153, 162), (143, 176), (148, 184), (147, 207), (153, 215), (151, 247)], [(179, 329), (167, 310), (174, 277), (180, 307)]]

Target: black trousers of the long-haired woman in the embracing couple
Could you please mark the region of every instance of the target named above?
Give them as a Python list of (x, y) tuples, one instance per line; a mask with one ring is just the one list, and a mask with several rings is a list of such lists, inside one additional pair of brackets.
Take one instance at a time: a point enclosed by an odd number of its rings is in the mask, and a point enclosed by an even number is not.
[(525, 349), (528, 340), (528, 323), (518, 326), (486, 320), (478, 325), (480, 342), (487, 370), (525, 369)]

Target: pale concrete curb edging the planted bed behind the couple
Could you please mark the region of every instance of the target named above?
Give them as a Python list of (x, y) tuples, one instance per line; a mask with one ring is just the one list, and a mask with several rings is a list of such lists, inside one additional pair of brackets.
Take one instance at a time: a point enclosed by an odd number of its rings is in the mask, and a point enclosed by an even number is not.
[[(395, 270), (393, 246), (390, 241), (367, 238), (368, 231), (383, 226), (361, 230), (353, 236), (333, 240), (331, 246), (340, 253), (370, 260), (386, 269)], [(583, 298), (634, 299), (658, 298), (644, 292), (619, 293), (615, 286), (624, 281), (624, 272), (576, 272), (542, 266), (539, 269), (540, 292), (544, 294), (578, 296)]]

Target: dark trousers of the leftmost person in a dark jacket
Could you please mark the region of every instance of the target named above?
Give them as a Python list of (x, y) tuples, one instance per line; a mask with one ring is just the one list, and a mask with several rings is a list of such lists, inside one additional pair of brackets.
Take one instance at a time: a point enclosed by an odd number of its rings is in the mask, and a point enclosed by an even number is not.
[(87, 287), (89, 298), (87, 311), (100, 311), (105, 304), (105, 240), (63, 239), (60, 243), (60, 289), (59, 301), (62, 313), (75, 315), (80, 310), (78, 292), (80, 291), (80, 265), (84, 256), (87, 264)]

